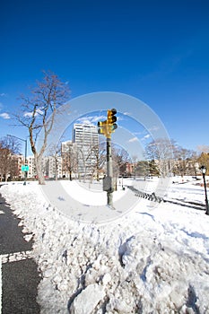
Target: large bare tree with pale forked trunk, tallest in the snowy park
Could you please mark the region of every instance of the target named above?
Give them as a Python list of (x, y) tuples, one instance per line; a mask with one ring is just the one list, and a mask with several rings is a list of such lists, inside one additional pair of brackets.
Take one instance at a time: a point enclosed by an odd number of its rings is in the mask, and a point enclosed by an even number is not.
[[(43, 81), (37, 82), (37, 86), (30, 92), (30, 98), (22, 95), (21, 113), (15, 115), (15, 118), (19, 124), (28, 128), (39, 184), (44, 184), (42, 156), (47, 148), (48, 135), (54, 125), (57, 108), (68, 98), (69, 89), (59, 80), (57, 74), (49, 71), (44, 72)], [(43, 130), (43, 143), (38, 151), (37, 138), (40, 130)]]

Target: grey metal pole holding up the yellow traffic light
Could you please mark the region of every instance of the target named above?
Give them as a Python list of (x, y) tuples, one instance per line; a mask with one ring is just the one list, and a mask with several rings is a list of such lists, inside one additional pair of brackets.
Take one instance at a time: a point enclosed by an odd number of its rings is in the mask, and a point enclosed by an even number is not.
[(111, 138), (107, 137), (107, 175), (109, 178), (109, 190), (107, 192), (108, 205), (113, 208), (113, 172), (112, 172), (112, 150), (111, 150)]

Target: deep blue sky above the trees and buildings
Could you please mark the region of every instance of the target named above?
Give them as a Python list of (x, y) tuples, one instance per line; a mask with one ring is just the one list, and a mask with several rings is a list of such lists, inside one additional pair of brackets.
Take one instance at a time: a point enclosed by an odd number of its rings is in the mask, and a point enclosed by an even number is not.
[(12, 0), (0, 14), (0, 137), (27, 135), (12, 113), (50, 69), (72, 99), (134, 96), (181, 146), (209, 145), (207, 0)]

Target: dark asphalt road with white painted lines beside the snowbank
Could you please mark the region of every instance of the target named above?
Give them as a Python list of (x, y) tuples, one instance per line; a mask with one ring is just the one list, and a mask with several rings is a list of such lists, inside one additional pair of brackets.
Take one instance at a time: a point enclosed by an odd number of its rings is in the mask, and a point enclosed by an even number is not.
[(38, 314), (40, 276), (30, 254), (32, 241), (24, 240), (19, 222), (0, 194), (0, 313)]

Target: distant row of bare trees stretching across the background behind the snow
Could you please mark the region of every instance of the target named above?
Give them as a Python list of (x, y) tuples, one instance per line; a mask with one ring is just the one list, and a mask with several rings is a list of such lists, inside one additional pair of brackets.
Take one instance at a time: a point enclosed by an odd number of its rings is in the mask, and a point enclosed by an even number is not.
[[(20, 148), (21, 144), (13, 136), (4, 136), (0, 139), (1, 181), (8, 178), (13, 179), (13, 177), (17, 177), (20, 174), (20, 169), (18, 169)], [(100, 179), (100, 173), (102, 170), (105, 172), (106, 167), (104, 142), (100, 143), (99, 147), (90, 147), (89, 156), (91, 153), (95, 156), (95, 162), (91, 164), (91, 170), (88, 170), (88, 173), (91, 173), (91, 179)], [(72, 179), (72, 173), (77, 171), (77, 153), (70, 150), (62, 155), (61, 148), (57, 146), (56, 149), (51, 148), (50, 156), (54, 157), (57, 162), (58, 157), (62, 157), (63, 170), (65, 172), (69, 171), (70, 179)], [(136, 156), (131, 158), (125, 149), (113, 144), (112, 159), (115, 178), (119, 176), (140, 176), (144, 177), (144, 179), (148, 176), (196, 176), (200, 174), (199, 168), (201, 165), (205, 165), (207, 174), (209, 174), (209, 153), (207, 153), (207, 150), (202, 153), (196, 153), (180, 147), (173, 140), (158, 139), (148, 144), (145, 149), (144, 160), (141, 161), (138, 161)], [(55, 178), (57, 179), (57, 175)], [(86, 179), (86, 177), (83, 179)]]

